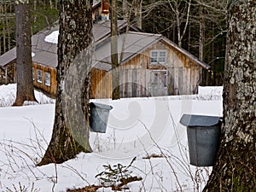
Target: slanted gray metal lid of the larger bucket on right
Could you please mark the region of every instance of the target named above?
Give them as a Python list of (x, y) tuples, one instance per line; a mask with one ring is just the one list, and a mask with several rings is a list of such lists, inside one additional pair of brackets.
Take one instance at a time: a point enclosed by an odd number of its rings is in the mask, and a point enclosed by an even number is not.
[(183, 114), (180, 123), (185, 126), (214, 126), (218, 125), (222, 117), (198, 114)]

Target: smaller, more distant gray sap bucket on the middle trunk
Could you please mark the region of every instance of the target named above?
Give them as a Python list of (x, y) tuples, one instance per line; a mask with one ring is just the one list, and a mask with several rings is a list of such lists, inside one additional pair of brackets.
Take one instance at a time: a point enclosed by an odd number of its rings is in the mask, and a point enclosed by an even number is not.
[(108, 114), (112, 106), (90, 102), (90, 130), (105, 133), (108, 124)]

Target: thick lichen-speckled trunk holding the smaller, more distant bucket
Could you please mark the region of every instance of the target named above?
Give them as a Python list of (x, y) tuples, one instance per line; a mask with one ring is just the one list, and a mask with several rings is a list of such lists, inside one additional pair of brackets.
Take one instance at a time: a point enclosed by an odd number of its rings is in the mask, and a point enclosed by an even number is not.
[(60, 1), (55, 124), (42, 166), (90, 152), (92, 1)]

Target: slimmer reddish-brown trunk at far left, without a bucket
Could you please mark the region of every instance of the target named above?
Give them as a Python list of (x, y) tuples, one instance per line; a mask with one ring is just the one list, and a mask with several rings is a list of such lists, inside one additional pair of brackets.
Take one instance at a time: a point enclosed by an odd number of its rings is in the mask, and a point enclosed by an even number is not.
[(15, 6), (17, 92), (14, 106), (36, 101), (32, 80), (30, 7), (28, 1)]

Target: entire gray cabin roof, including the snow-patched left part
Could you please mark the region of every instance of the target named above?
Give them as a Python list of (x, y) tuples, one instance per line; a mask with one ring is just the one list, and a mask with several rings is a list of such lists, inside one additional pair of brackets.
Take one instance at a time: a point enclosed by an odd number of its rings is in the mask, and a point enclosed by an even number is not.
[[(126, 21), (119, 20), (119, 30), (124, 29), (127, 25)], [(32, 61), (47, 67), (57, 67), (57, 37), (59, 26), (52, 26), (32, 36)], [(137, 31), (136, 28), (133, 29)], [(54, 35), (53, 35), (54, 34)], [(105, 71), (111, 69), (110, 65), (110, 21), (105, 20), (101, 23), (93, 25), (94, 41), (96, 42), (96, 51), (93, 55), (92, 67)], [(46, 40), (47, 39), (47, 40)], [(209, 68), (209, 66), (200, 61), (194, 55), (191, 55), (185, 49), (182, 49), (167, 38), (160, 34), (151, 34), (144, 32), (128, 32), (118, 36), (119, 59), (122, 54), (122, 63), (129, 61), (135, 55), (140, 54), (143, 50), (158, 41), (164, 41), (173, 49), (177, 49), (183, 55), (195, 61), (201, 67)], [(10, 49), (8, 52), (0, 56), (0, 66), (5, 67), (10, 62), (15, 61), (16, 49)]]

